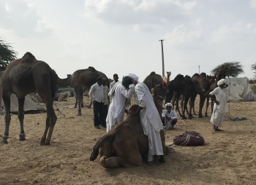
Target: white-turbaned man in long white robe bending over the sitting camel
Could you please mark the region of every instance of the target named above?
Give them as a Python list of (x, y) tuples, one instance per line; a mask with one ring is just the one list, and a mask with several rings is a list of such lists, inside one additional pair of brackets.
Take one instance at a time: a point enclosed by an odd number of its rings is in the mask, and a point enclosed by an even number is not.
[(135, 114), (140, 114), (144, 134), (148, 135), (148, 164), (159, 165), (158, 157), (163, 159), (164, 155), (160, 137), (162, 121), (159, 112), (146, 84), (138, 82), (139, 77), (135, 74), (129, 74), (129, 76), (135, 84), (135, 101), (139, 106)]

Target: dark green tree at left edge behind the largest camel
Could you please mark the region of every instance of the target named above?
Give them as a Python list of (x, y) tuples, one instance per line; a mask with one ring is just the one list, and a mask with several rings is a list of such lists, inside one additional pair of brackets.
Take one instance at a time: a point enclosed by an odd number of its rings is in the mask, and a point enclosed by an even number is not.
[(12, 50), (9, 43), (0, 40), (0, 71), (4, 71), (10, 61), (15, 60), (18, 52)]

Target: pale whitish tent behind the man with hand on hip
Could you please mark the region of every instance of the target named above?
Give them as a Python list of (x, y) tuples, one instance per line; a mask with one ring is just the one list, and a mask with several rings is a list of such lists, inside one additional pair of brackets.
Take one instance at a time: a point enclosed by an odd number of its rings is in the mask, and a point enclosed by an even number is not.
[(224, 90), (230, 101), (255, 101), (255, 95), (245, 78), (226, 78), (228, 87)]

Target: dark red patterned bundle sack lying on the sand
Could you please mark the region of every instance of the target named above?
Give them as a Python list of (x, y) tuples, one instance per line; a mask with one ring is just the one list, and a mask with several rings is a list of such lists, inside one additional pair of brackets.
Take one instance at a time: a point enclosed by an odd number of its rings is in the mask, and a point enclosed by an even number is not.
[(173, 137), (173, 143), (178, 146), (201, 146), (205, 143), (205, 140), (200, 133), (186, 131), (182, 135), (175, 135)]

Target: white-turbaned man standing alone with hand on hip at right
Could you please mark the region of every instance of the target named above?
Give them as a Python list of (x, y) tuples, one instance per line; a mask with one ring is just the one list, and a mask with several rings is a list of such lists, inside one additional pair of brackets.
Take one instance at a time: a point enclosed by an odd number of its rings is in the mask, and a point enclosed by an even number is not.
[[(222, 127), (224, 113), (228, 111), (227, 109), (227, 95), (223, 88), (226, 86), (227, 82), (225, 79), (220, 79), (217, 82), (219, 87), (216, 87), (213, 91), (209, 93), (211, 101), (214, 101), (214, 111), (211, 114), (211, 123), (214, 124), (213, 131), (223, 131), (219, 127)], [(215, 95), (215, 96), (214, 96)]]

